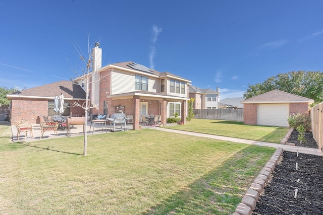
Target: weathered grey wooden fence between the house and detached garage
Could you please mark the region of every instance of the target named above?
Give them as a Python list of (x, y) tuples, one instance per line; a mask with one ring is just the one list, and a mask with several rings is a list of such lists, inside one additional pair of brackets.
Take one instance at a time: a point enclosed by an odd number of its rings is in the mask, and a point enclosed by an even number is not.
[(194, 118), (243, 121), (243, 109), (195, 109)]

